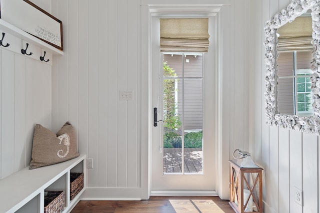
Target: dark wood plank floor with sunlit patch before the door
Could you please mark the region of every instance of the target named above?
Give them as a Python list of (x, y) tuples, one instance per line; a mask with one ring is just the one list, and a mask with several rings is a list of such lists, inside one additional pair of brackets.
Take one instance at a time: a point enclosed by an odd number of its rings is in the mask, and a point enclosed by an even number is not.
[(234, 213), (216, 196), (151, 196), (143, 201), (80, 201), (71, 213)]

